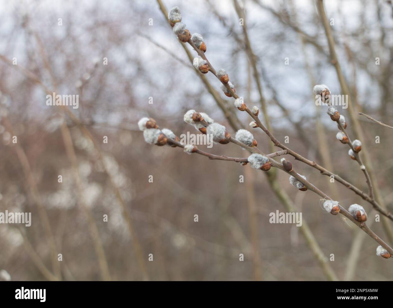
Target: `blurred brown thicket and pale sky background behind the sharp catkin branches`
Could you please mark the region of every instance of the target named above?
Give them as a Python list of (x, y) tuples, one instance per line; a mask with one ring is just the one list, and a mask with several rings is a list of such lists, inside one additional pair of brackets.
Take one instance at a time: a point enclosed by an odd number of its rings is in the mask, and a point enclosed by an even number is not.
[[(144, 116), (178, 136), (195, 133), (183, 122), (188, 109), (208, 113), (233, 136), (225, 115), (251, 130), (250, 118), (235, 109), (219, 81), (212, 74), (201, 79), (158, 2), (0, 3), (0, 211), (32, 213), (30, 227), (0, 224), (1, 279), (320, 281), (332, 279), (333, 271), (340, 280), (391, 280), (391, 260), (375, 255), (376, 242), (341, 215), (326, 213), (318, 195), (296, 190), (286, 173), (144, 142), (137, 126)], [(288, 136), (291, 149), (367, 191), (349, 148), (335, 138), (336, 124), (314, 104), (314, 84), (342, 94), (314, 1), (241, 1), (244, 26), (232, 0), (163, 5), (180, 7), (191, 33), (204, 37), (211, 64), (226, 69), (248, 106), (261, 107), (246, 27), (275, 137)], [(331, 0), (325, 10), (334, 18), (338, 60), (356, 110), (392, 125), (391, 2)], [(79, 108), (46, 106), (53, 91), (78, 94)], [(348, 109), (339, 111), (353, 136)], [(357, 117), (371, 172), (393, 211), (392, 131)], [(252, 133), (270, 152), (263, 131)], [(199, 148), (248, 156), (233, 144)], [(372, 206), (352, 191), (291, 160), (334, 200), (361, 204), (375, 220)], [(288, 206), (302, 212), (303, 230), (269, 223), (269, 213)], [(303, 234), (306, 223), (312, 244)], [(393, 244), (382, 222), (372, 229)]]

